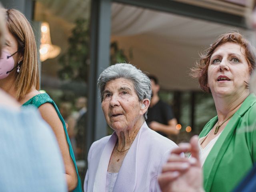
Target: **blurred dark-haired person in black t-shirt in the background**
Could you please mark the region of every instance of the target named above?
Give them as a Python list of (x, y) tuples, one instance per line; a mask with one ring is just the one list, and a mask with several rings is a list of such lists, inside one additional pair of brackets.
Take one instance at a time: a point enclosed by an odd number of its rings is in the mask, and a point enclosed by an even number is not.
[(172, 108), (167, 103), (160, 100), (158, 92), (160, 86), (155, 76), (149, 75), (152, 89), (152, 98), (148, 108), (148, 119), (146, 120), (149, 128), (155, 130), (162, 136), (168, 137), (177, 135), (180, 130), (176, 129), (177, 120), (174, 117)]

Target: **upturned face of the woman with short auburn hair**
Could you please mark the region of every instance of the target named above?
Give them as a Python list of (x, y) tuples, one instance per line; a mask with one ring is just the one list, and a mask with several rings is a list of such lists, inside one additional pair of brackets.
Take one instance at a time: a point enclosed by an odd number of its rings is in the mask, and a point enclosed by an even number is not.
[(249, 94), (246, 83), (250, 81), (245, 49), (227, 42), (216, 48), (208, 67), (208, 84), (212, 94), (222, 96)]

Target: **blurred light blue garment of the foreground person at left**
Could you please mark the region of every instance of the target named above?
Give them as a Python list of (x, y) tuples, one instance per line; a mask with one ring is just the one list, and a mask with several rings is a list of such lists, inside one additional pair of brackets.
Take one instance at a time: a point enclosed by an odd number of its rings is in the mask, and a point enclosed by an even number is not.
[(36, 108), (0, 107), (0, 143), (0, 191), (67, 191), (58, 143)]

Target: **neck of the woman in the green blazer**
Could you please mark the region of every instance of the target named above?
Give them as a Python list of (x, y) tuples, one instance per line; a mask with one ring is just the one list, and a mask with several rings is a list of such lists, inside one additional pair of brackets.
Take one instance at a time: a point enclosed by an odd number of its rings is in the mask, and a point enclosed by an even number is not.
[(218, 121), (224, 122), (227, 118), (234, 114), (240, 108), (248, 95), (249, 91), (248, 93), (240, 94), (238, 96), (218, 97), (212, 94), (217, 110)]

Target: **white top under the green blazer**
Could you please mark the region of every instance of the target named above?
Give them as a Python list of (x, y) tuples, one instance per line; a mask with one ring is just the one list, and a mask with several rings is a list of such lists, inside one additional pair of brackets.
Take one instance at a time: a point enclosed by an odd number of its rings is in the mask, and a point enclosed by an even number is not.
[[(210, 132), (209, 132), (210, 133)], [(209, 134), (208, 133), (208, 134)], [(213, 138), (204, 148), (202, 148), (201, 144), (204, 141), (204, 139), (208, 136), (208, 134), (202, 138), (199, 139), (198, 141), (198, 145), (199, 145), (199, 157), (200, 157), (200, 162), (201, 165), (204, 165), (204, 162), (208, 156), (208, 154), (210, 153), (210, 151), (212, 150), (212, 147), (214, 146), (214, 144), (216, 143), (216, 141), (218, 140), (220, 134), (218, 136), (216, 136), (215, 138)]]

